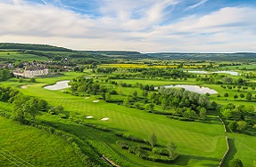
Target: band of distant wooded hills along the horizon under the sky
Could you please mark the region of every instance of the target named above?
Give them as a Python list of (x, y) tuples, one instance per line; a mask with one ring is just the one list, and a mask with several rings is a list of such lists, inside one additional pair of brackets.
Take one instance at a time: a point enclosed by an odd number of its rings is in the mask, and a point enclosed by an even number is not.
[[(120, 58), (125, 60), (136, 59), (161, 59), (161, 60), (214, 60), (214, 61), (255, 61), (254, 52), (235, 53), (180, 53), (180, 52), (156, 52), (141, 53), (129, 51), (75, 51), (63, 47), (48, 44), (13, 44), (0, 43), (0, 50), (15, 50), (22, 53), (36, 54), (48, 58), (54, 57), (54, 52), (69, 52), (70, 58)], [(47, 53), (45, 53), (47, 52)]]

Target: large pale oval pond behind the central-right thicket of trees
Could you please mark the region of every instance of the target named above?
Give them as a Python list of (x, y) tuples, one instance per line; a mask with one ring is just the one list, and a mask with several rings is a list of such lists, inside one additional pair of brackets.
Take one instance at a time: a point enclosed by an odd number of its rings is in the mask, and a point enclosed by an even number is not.
[[(186, 91), (194, 91), (199, 94), (206, 94), (207, 92), (209, 94), (215, 94), (218, 93), (218, 91), (215, 91), (208, 87), (198, 86), (198, 85), (186, 85), (186, 84), (176, 84), (176, 85), (166, 85), (165, 88), (184, 88)], [(158, 88), (156, 88), (158, 89)]]

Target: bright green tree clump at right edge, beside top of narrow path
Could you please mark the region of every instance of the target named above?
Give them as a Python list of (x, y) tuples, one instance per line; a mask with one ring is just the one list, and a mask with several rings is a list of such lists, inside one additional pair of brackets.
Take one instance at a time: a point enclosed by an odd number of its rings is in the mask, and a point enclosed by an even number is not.
[(220, 108), (220, 113), (224, 115), (228, 123), (228, 128), (231, 131), (246, 131), (249, 126), (256, 128), (255, 113), (253, 106), (240, 105), (236, 107), (233, 103)]

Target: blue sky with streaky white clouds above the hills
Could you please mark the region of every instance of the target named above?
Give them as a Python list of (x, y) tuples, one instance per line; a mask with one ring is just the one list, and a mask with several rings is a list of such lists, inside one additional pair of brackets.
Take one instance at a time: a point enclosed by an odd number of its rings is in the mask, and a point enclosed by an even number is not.
[(0, 42), (256, 52), (256, 0), (0, 0)]

